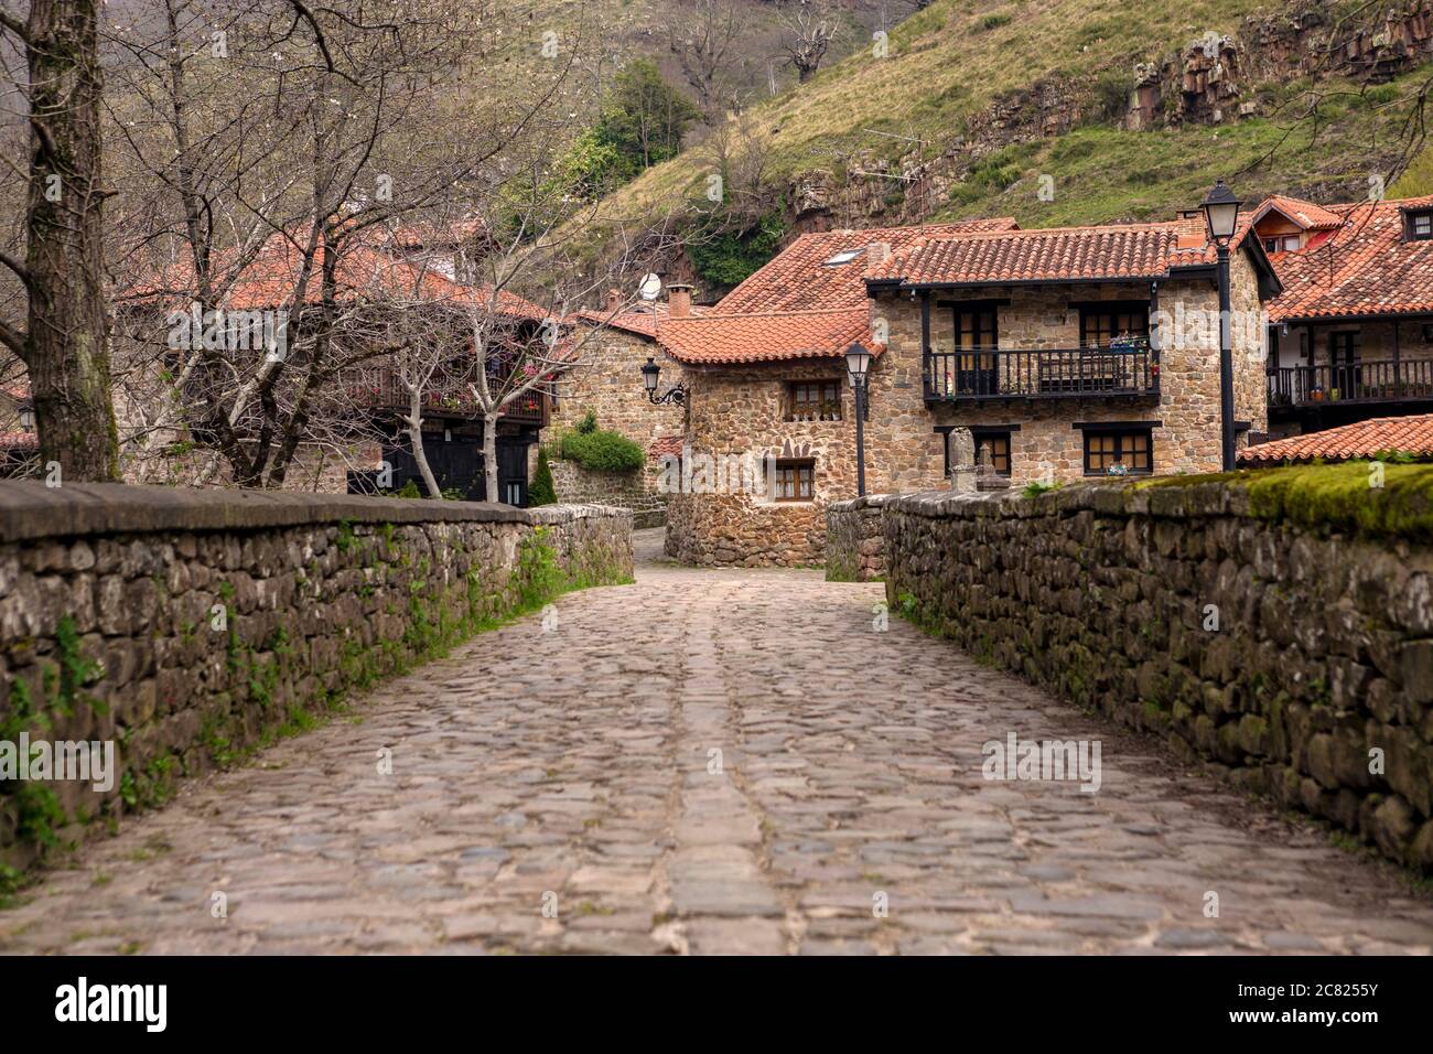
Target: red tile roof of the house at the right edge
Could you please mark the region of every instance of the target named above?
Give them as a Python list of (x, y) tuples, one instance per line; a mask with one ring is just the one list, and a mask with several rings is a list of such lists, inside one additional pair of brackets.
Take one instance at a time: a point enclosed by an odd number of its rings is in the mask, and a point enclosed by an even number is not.
[(1331, 205), (1343, 227), (1317, 248), (1281, 252), (1274, 321), (1433, 313), (1433, 241), (1403, 239), (1403, 209), (1433, 196)]

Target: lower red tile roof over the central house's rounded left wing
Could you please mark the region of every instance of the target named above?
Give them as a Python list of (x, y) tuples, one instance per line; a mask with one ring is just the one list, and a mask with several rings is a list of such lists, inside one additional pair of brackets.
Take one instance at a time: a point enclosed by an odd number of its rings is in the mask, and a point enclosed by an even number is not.
[[(662, 323), (662, 347), (679, 363), (774, 363), (838, 356), (871, 343), (870, 308), (711, 314)], [(874, 353), (881, 348), (873, 347)]]

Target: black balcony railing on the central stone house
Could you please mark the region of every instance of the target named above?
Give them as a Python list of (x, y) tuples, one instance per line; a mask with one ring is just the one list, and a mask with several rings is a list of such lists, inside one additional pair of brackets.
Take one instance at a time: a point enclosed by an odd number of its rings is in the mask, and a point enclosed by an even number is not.
[(924, 374), (929, 400), (1159, 396), (1159, 360), (1144, 343), (930, 351)]

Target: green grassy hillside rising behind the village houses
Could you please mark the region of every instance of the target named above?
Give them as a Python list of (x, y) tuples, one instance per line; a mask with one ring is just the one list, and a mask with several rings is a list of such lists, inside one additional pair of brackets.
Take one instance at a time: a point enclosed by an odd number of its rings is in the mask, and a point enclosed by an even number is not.
[[(896, 26), (887, 57), (871, 49), (847, 56), (749, 109), (739, 135), (765, 155), (764, 178), (774, 185), (813, 171), (838, 186), (874, 179), (864, 195), (874, 204), (857, 218), (893, 222), (906, 184), (864, 174), (959, 158), (987, 126), (992, 106), (1053, 85), (1082, 99), (1089, 116), (1063, 135), (974, 152), (964, 178), (926, 202), (921, 215), (1010, 214), (1030, 227), (1168, 217), (1198, 204), (1217, 176), (1245, 196), (1361, 196), (1369, 176), (1384, 174), (1397, 153), (1401, 112), (1391, 100), (1427, 67), (1363, 98), (1330, 100), (1317, 135), (1311, 122), (1283, 115), (1146, 132), (1118, 122), (1135, 63), (1166, 62), (1209, 33), (1238, 34), (1245, 16), (1287, 10), (1268, 0), (936, 0)], [(1308, 86), (1245, 82), (1240, 98), (1257, 99), (1258, 112), (1271, 115)], [(1337, 80), (1321, 87), (1357, 92)], [(709, 145), (696, 145), (648, 171), (609, 198), (612, 215), (695, 198), (712, 158)], [(1037, 194), (1042, 175), (1053, 179), (1050, 201)]]

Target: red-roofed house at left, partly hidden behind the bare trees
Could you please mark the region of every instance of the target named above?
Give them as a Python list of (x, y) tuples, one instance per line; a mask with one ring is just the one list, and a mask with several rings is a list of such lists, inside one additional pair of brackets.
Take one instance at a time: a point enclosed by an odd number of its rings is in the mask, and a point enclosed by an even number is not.
[[(444, 232), (447, 231), (447, 232)], [(509, 369), (520, 357), (520, 348), (535, 346), (549, 313), (507, 290), (471, 284), (471, 267), (464, 264), (473, 255), (477, 237), (473, 224), (451, 228), (400, 228), (387, 237), (354, 238), (345, 244), (334, 264), (334, 303), (324, 303), (317, 275), (322, 268), (322, 250), (315, 252), (305, 298), (288, 327), (295, 334), (305, 333), (310, 318), (332, 310), (335, 340), (342, 343), (344, 357), (357, 364), (337, 370), (332, 383), (315, 397), (317, 419), (324, 422), (321, 439), (304, 437), (285, 485), (317, 492), (373, 493), (377, 489), (401, 489), (421, 476), (411, 450), (411, 439), (401, 414), (408, 409), (410, 396), (393, 367), (393, 359), (360, 354), (365, 344), (387, 341), (398, 344), (418, 340), (426, 353), (441, 361), (423, 390), (423, 449), (430, 467), (444, 490), (457, 490), (470, 499), (486, 495), (483, 465), (483, 433), (496, 433), (499, 500), (510, 505), (527, 503), (529, 449), (535, 449), (540, 430), (549, 419), (549, 399), (537, 389), (510, 403), (494, 422), (486, 422), (477, 409), (469, 383), (477, 374), (473, 353), (470, 313), (489, 320), (494, 351), (489, 356), (490, 376)], [(222, 310), (225, 326), (234, 330), (235, 318), (269, 320), (269, 333), (282, 328), (289, 313), (289, 301), (304, 272), (302, 242), (288, 234), (272, 235), (259, 247), (225, 290)], [(222, 272), (222, 268), (216, 268)], [(459, 280), (451, 275), (457, 274)], [(119, 330), (135, 341), (168, 344), (162, 356), (166, 370), (175, 371), (188, 354), (191, 338), (198, 347), (201, 333), (218, 323), (196, 318), (188, 324), (183, 315), (192, 310), (195, 281), (188, 264), (162, 268), (125, 290), (118, 297)], [(193, 308), (196, 310), (196, 308)], [(175, 320), (185, 323), (175, 344)], [(242, 326), (242, 323), (241, 323)], [(255, 334), (236, 347), (219, 350), (232, 373), (252, 371), (264, 354)], [(291, 344), (298, 343), (292, 337)], [(304, 353), (285, 350), (295, 361)], [(208, 383), (201, 370), (188, 381), (192, 399), (201, 399)], [(219, 383), (225, 383), (221, 376)], [(149, 394), (149, 393), (142, 393)], [(125, 422), (142, 417), (145, 407), (129, 406), (116, 397), (116, 413)], [(149, 446), (162, 450), (166, 445), (193, 447), (203, 457), (203, 447), (212, 442), (199, 427), (155, 430)], [(163, 460), (163, 459), (158, 459)], [(175, 470), (182, 470), (176, 465)], [(156, 482), (146, 479), (146, 482)]]

